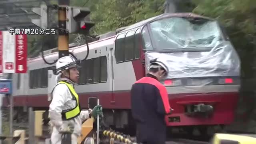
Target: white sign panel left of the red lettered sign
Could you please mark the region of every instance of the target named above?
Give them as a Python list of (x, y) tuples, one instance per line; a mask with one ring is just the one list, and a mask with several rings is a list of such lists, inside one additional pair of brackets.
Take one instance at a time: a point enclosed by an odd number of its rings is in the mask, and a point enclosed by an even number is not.
[(15, 73), (15, 35), (8, 31), (2, 31), (3, 36), (3, 73)]

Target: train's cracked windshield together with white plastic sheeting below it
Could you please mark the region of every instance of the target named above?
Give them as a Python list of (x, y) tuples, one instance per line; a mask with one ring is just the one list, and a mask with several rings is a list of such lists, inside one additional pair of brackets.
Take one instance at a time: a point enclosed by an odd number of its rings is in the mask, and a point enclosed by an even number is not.
[[(169, 17), (149, 26), (142, 30), (144, 48), (149, 50), (145, 53), (147, 70), (150, 60), (165, 58), (167, 78), (240, 76), (238, 54), (229, 41), (223, 40), (216, 21)], [(168, 53), (154, 52), (167, 49)]]

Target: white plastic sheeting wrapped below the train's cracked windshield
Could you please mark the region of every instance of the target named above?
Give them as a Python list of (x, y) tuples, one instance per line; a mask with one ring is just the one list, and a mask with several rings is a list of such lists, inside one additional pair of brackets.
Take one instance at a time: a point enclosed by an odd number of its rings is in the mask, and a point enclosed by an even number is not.
[(154, 58), (165, 58), (167, 78), (240, 76), (240, 59), (229, 41), (217, 41), (207, 52), (146, 52), (146, 68)]

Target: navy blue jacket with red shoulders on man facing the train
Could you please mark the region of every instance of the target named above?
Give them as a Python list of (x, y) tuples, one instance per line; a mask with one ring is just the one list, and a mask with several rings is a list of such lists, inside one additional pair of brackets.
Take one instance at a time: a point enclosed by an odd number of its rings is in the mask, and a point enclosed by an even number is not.
[(166, 88), (155, 76), (147, 74), (132, 85), (131, 97), (137, 142), (164, 144), (165, 115), (170, 112)]

